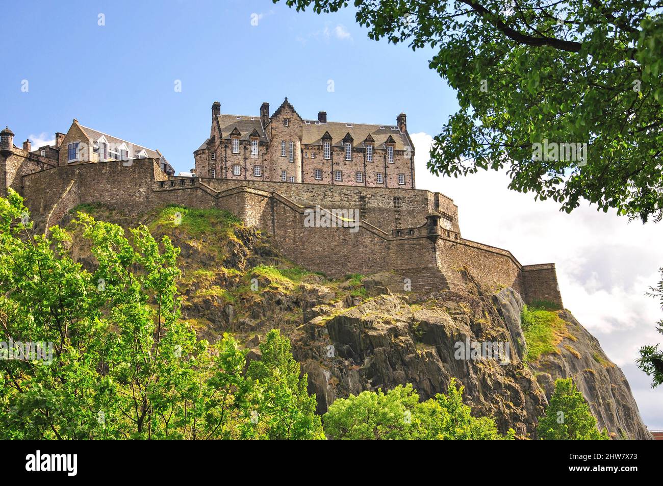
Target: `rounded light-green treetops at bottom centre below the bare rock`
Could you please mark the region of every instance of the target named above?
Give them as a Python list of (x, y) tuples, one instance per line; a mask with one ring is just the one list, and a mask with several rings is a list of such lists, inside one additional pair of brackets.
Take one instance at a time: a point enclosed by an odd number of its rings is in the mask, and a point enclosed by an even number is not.
[(447, 395), (425, 402), (411, 384), (383, 393), (363, 391), (357, 396), (337, 398), (324, 416), (330, 439), (347, 440), (499, 440), (511, 439), (497, 431), (488, 417), (473, 417), (463, 404), (463, 387), (455, 379)]

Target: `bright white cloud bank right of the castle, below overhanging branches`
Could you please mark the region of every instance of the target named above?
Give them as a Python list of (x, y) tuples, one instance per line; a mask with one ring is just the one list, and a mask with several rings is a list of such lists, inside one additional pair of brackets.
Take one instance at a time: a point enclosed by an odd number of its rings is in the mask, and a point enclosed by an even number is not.
[[(657, 300), (644, 296), (660, 280), (663, 224), (629, 223), (586, 203), (571, 214), (562, 213), (554, 201), (534, 201), (534, 194), (509, 190), (505, 170), (434, 176), (426, 169), (432, 137), (410, 136), (416, 148), (416, 187), (453, 199), (461, 235), (509, 249), (523, 264), (556, 263), (564, 306), (599, 339), (610, 359), (624, 367), (631, 383), (642, 383), (642, 372), (633, 364), (638, 349), (663, 341), (654, 330), (663, 312)], [(663, 389), (641, 387), (636, 394), (648, 403), (662, 398)], [(654, 416), (641, 412), (645, 423), (654, 422)]]

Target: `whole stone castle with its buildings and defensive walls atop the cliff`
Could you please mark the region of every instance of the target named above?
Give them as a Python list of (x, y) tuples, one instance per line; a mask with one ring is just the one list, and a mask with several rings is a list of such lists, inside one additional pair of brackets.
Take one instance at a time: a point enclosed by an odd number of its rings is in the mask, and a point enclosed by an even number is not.
[[(302, 119), (287, 98), (271, 116), (263, 103), (259, 117), (221, 115), (215, 102), (194, 177), (174, 176), (160, 152), (76, 120), (36, 151), (29, 141), (15, 147), (13, 136), (0, 133), (0, 191), (19, 192), (45, 231), (82, 203), (129, 214), (166, 204), (219, 208), (330, 277), (392, 271), (412, 292), (511, 286), (525, 302), (562, 306), (554, 264), (522, 265), (508, 250), (463, 238), (453, 200), (415, 189), (404, 113), (394, 126), (328, 123), (324, 111)], [(339, 209), (358, 215), (352, 227), (307, 224), (312, 210), (333, 221)]]

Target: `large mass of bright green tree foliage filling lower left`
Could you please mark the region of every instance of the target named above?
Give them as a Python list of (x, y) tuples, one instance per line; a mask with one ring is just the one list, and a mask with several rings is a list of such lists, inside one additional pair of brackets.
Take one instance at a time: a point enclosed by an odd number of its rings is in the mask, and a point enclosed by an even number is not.
[(21, 197), (0, 198), (0, 341), (52, 343), (51, 360), (0, 359), (0, 438), (324, 438), (286, 337), (246, 373), (233, 337), (210, 345), (180, 318), (168, 237), (74, 225), (93, 269), (70, 233), (35, 235)]

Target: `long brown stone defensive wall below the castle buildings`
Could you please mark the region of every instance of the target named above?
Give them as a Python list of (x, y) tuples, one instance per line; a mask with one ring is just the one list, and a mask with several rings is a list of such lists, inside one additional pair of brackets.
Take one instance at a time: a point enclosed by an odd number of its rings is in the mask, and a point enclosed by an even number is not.
[[(562, 306), (554, 265), (521, 265), (508, 250), (463, 239), (453, 201), (427, 190), (174, 177), (158, 160), (141, 159), (27, 174), (22, 194), (42, 229), (81, 203), (130, 214), (167, 204), (219, 208), (271, 235), (288, 259), (331, 277), (389, 270), (413, 292), (511, 286), (526, 302)], [(312, 225), (314, 211), (333, 224)]]

